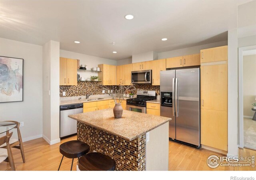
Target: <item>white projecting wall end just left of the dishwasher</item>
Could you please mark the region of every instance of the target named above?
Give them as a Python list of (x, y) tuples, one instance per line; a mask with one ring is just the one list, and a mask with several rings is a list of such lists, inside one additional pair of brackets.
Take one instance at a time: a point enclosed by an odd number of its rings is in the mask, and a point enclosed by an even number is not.
[(60, 42), (44, 44), (43, 64), (43, 138), (52, 145), (60, 142)]

